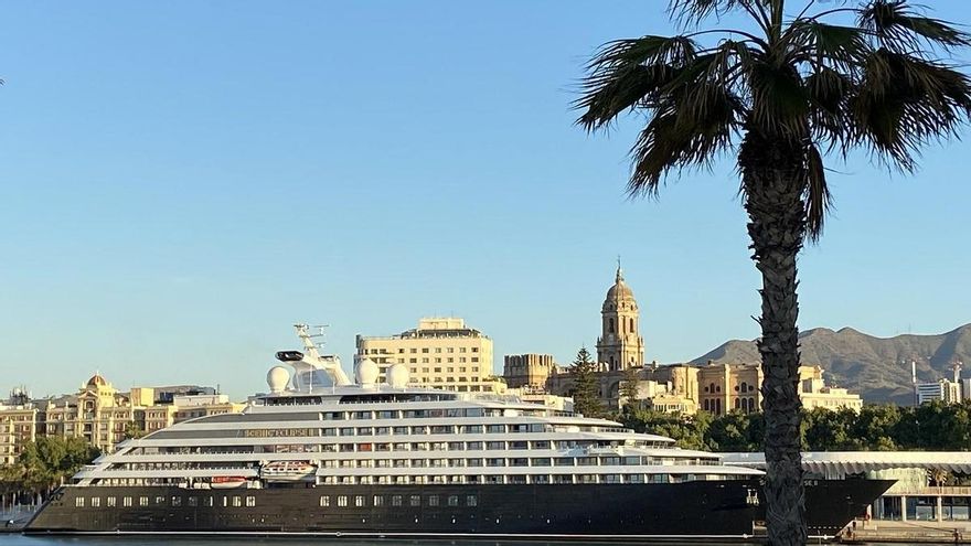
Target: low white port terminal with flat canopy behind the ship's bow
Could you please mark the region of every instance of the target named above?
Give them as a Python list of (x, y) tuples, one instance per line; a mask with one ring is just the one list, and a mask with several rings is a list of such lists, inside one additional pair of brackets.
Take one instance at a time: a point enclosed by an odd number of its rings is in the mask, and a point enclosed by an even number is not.
[[(766, 468), (765, 453), (723, 453), (723, 461)], [(971, 452), (811, 451), (802, 469), (807, 480), (897, 480), (869, 507), (873, 520), (971, 522)]]

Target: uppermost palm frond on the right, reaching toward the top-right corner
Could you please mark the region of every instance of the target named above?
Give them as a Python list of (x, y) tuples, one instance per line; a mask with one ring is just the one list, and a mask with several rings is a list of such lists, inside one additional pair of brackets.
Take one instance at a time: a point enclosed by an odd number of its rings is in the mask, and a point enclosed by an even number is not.
[(915, 52), (920, 41), (943, 49), (971, 45), (971, 36), (951, 23), (918, 14), (907, 0), (872, 0), (858, 12), (858, 24), (873, 32), (881, 45)]

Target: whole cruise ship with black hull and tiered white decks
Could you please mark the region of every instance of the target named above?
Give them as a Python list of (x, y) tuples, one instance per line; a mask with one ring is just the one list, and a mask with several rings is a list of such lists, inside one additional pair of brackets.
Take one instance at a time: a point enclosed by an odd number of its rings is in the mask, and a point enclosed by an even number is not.
[[(242, 414), (119, 445), (61, 488), (25, 533), (354, 538), (751, 540), (761, 472), (670, 438), (525, 403), (409, 384), (394, 364), (354, 381), (302, 351)], [(808, 483), (810, 533), (833, 536), (892, 482)]]

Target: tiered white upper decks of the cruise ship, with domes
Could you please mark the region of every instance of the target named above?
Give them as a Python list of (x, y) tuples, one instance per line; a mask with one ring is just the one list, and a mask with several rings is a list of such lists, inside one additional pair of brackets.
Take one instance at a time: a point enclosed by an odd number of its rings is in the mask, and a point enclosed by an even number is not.
[(245, 478), (248, 488), (286, 481), (679, 483), (760, 474), (723, 465), (713, 453), (677, 449), (670, 438), (514, 396), (414, 388), (405, 366), (392, 366), (390, 381), (378, 384), (377, 366), (362, 361), (352, 385), (334, 373), (340, 364), (333, 357), (309, 366), (324, 358), (278, 356), (296, 362), (295, 373), (270, 370), (273, 393), (242, 414), (129, 440), (78, 473), (78, 484), (206, 488), (216, 477)]

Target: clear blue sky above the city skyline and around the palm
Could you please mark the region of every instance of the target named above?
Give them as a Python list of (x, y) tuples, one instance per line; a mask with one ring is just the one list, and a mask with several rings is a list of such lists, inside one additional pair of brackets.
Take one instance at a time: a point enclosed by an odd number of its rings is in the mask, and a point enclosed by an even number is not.
[[(459, 315), (502, 355), (593, 346), (622, 255), (647, 358), (758, 328), (733, 164), (630, 201), (629, 119), (572, 126), (581, 64), (670, 33), (666, 2), (6, 2), (0, 394), (264, 388), (294, 322), (390, 335)], [(971, 3), (927, 2), (971, 22)], [(971, 322), (969, 154), (835, 164), (800, 326)]]

